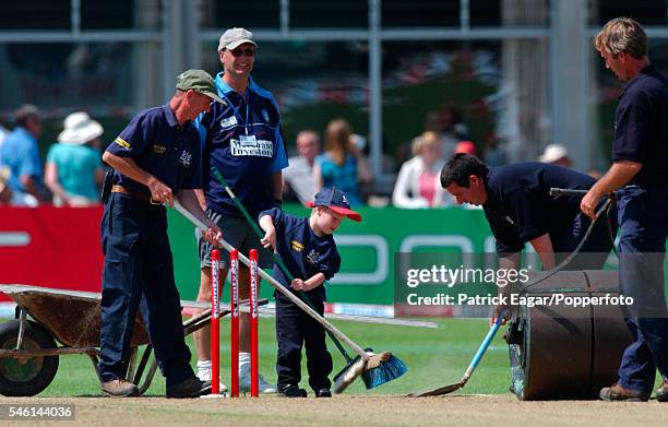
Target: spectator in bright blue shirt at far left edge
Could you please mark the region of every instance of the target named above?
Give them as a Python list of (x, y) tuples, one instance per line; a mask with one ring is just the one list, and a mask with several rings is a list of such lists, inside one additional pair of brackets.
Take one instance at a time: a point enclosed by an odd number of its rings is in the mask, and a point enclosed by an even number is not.
[(37, 138), (41, 134), (39, 110), (26, 104), (15, 112), (16, 128), (0, 146), (2, 166), (10, 171), (9, 187), (21, 197), (28, 193), (35, 199), (41, 197), (41, 159)]

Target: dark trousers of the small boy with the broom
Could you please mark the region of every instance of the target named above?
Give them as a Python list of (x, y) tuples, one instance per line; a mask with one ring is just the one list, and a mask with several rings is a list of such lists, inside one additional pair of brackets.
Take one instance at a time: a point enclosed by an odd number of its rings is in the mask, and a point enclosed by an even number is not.
[[(301, 346), (306, 346), (309, 386), (313, 391), (329, 389), (327, 378), (332, 373), (332, 355), (325, 344), (324, 328), (303, 312), (285, 296), (275, 293), (276, 298), (276, 340), (278, 355), (276, 373), (278, 390), (287, 386), (298, 386), (301, 380)], [(315, 311), (324, 313), (324, 303), (312, 300)]]

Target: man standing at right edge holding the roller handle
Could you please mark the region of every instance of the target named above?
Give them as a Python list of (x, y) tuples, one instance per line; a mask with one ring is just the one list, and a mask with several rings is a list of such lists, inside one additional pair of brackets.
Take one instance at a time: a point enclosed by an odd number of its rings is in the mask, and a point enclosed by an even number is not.
[(615, 111), (612, 165), (584, 197), (581, 209), (594, 216), (600, 198), (617, 190), (619, 282), (622, 293), (634, 300), (627, 319), (634, 342), (624, 352), (619, 381), (604, 388), (600, 398), (647, 401), (658, 369), (664, 381), (656, 398), (667, 402), (668, 79), (649, 62), (647, 35), (634, 20), (609, 21), (594, 46), (627, 85)]

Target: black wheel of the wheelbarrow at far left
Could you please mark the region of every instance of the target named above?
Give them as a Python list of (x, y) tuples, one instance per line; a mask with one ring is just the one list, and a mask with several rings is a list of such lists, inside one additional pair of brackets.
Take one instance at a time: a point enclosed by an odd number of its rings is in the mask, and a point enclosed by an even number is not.
[[(19, 320), (0, 324), (0, 348), (14, 349), (19, 339)], [(53, 337), (39, 324), (27, 321), (22, 349), (56, 348)], [(0, 358), (0, 394), (32, 396), (46, 389), (58, 370), (58, 356)]]

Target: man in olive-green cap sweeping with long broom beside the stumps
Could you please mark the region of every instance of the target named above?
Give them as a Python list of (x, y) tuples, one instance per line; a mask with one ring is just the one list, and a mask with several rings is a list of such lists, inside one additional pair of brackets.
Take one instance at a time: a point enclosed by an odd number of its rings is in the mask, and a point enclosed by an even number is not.
[(204, 384), (190, 367), (183, 341), (181, 307), (174, 280), (163, 203), (179, 202), (220, 237), (200, 207), (194, 189), (202, 187), (200, 141), (192, 120), (220, 100), (213, 79), (188, 70), (177, 79), (168, 104), (136, 115), (114, 140), (103, 161), (115, 169), (105, 200), (102, 246), (105, 253), (102, 296), (99, 371), (102, 393), (138, 394), (126, 379), (134, 317), (142, 295), (148, 308), (148, 332), (155, 357), (167, 381), (168, 398), (194, 398)]

